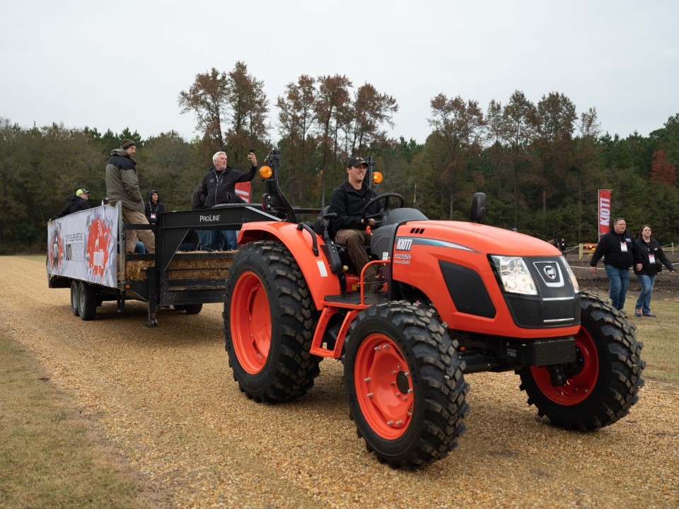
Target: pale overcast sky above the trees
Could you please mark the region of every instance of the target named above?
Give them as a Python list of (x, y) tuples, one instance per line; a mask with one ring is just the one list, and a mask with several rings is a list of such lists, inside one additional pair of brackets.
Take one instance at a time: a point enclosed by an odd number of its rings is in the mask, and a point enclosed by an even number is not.
[[(5, 1), (3, 2), (5, 3)], [(302, 74), (344, 74), (399, 105), (424, 143), (430, 101), (559, 92), (603, 132), (647, 136), (679, 113), (677, 0), (22, 0), (0, 16), (0, 117), (21, 127), (195, 134), (177, 98), (239, 60), (277, 98)]]

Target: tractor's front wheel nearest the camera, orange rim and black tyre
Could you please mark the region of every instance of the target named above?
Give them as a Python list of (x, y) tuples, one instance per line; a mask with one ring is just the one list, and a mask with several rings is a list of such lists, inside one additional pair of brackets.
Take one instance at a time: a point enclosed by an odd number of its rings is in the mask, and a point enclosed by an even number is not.
[(350, 417), (393, 468), (446, 457), (465, 431), (464, 361), (434, 312), (407, 302), (361, 311), (344, 344)]

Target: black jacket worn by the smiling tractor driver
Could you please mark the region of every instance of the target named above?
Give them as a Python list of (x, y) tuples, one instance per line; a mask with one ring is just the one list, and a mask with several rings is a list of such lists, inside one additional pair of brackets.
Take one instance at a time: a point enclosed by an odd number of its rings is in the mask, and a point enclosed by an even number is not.
[[(336, 213), (332, 219), (332, 231), (330, 235), (335, 238), (337, 230), (352, 228), (353, 230), (365, 230), (366, 225), (361, 224), (363, 208), (371, 199), (377, 197), (377, 193), (363, 182), (361, 189), (354, 189), (349, 180), (344, 180), (340, 187), (336, 187), (330, 194), (330, 212)], [(379, 213), (382, 205), (379, 201), (373, 203), (366, 211), (367, 216)]]

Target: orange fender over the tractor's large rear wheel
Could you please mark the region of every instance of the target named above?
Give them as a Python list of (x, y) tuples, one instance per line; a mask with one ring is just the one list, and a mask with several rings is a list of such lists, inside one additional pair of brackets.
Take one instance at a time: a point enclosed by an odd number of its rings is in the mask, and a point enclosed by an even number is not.
[[(311, 235), (314, 235), (318, 242), (318, 255), (313, 252)], [(330, 264), (321, 249), (324, 242), (320, 235), (298, 229), (295, 223), (244, 223), (240, 228), (238, 245), (257, 240), (277, 240), (288, 248), (302, 270), (316, 309), (323, 309), (325, 296), (342, 293), (340, 280), (330, 270)]]

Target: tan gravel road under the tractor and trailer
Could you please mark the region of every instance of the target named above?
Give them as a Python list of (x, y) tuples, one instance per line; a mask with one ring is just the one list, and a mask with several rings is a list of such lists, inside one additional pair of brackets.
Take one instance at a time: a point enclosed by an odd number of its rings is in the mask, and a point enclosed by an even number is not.
[(0, 257), (0, 327), (129, 460), (168, 508), (675, 508), (679, 387), (646, 380), (629, 416), (593, 433), (552, 428), (513, 373), (467, 375), (468, 431), (446, 459), (395, 471), (349, 420), (342, 365), (321, 363), (306, 396), (262, 405), (238, 390), (221, 305), (70, 313), (45, 264)]

